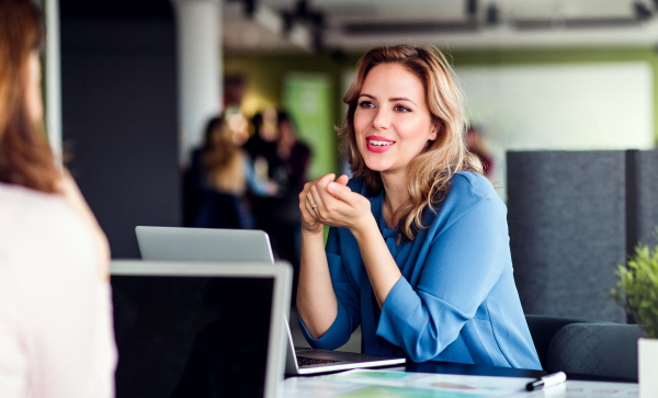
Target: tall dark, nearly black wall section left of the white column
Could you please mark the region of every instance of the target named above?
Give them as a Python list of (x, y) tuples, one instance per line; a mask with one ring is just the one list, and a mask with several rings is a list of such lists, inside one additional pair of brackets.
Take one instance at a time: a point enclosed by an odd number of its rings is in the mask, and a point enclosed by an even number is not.
[(182, 224), (173, 5), (58, 3), (66, 163), (112, 257), (138, 259), (136, 226)]

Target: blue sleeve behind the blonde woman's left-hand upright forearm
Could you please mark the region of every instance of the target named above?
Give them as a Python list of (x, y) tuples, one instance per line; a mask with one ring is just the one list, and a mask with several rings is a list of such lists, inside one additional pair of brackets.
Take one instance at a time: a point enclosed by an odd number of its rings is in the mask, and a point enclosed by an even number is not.
[[(306, 338), (306, 341), (314, 349), (320, 350), (334, 350), (350, 340), (352, 332), (356, 330), (361, 323), (361, 310), (359, 300), (359, 291), (354, 286), (354, 282), (350, 280), (345, 265), (343, 264), (343, 255), (349, 257), (350, 253), (341, 253), (340, 250), (340, 237), (337, 228), (331, 227), (329, 229), (329, 237), (327, 238), (327, 262), (329, 264), (329, 273), (331, 275), (331, 284), (333, 292), (336, 293), (336, 299), (338, 302), (338, 314), (331, 327), (322, 334), (319, 339), (314, 339), (306, 330), (304, 321), (299, 317), (299, 325), (302, 332)], [(352, 255), (361, 254), (358, 251)]]

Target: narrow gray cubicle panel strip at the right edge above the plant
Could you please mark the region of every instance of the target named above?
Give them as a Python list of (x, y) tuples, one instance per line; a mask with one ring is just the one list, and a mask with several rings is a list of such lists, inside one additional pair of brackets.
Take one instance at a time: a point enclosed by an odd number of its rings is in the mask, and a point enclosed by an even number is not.
[(637, 152), (637, 239), (645, 245), (658, 243), (658, 151)]

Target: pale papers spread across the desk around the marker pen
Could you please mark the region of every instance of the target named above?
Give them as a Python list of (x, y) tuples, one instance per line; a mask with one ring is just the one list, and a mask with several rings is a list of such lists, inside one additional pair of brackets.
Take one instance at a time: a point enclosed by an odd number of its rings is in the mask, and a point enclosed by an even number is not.
[(285, 380), (285, 397), (341, 398), (621, 398), (637, 397), (637, 384), (567, 380), (534, 393), (532, 378), (442, 375), (356, 369), (313, 378)]

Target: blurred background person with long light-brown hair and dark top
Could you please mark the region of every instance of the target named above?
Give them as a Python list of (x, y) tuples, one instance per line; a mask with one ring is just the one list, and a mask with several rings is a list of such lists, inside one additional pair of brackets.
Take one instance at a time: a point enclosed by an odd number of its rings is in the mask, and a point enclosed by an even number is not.
[(254, 174), (224, 115), (207, 123), (203, 147), (192, 153), (184, 186), (185, 225), (196, 228), (253, 228), (247, 191), (256, 195), (277, 191), (274, 183)]

